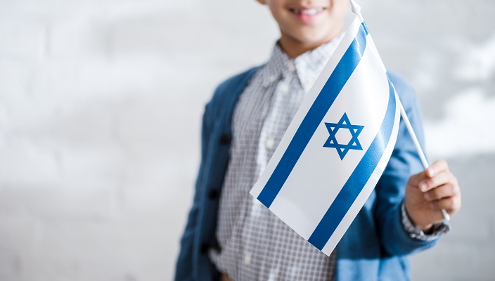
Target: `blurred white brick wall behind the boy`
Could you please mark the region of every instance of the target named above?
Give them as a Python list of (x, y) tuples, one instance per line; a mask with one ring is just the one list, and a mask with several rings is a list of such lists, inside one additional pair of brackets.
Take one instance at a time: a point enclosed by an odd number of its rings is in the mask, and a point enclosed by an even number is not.
[[(359, 4), (463, 190), (413, 280), (494, 280), (495, 1)], [(277, 38), (255, 0), (0, 0), (0, 280), (170, 280), (204, 105)]]

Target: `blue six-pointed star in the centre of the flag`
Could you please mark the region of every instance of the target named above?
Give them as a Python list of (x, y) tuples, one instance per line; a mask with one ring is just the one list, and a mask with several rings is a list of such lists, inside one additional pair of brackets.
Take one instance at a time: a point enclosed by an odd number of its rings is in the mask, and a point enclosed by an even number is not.
[[(342, 115), (342, 118), (340, 118), (340, 121), (337, 124), (325, 123), (325, 126), (328, 130), (328, 133), (330, 133), (330, 136), (328, 137), (328, 140), (326, 140), (326, 143), (323, 145), (323, 147), (335, 148), (341, 160), (344, 159), (349, 150), (363, 150), (363, 148), (361, 147), (361, 143), (359, 143), (357, 137), (359, 136), (359, 133), (363, 131), (364, 126), (352, 125), (351, 122), (349, 122), (349, 118), (347, 117), (346, 113)], [(349, 141), (349, 143), (338, 143), (337, 138), (335, 138), (335, 134), (337, 134), (339, 129), (349, 130), (349, 132), (351, 133), (351, 140)]]

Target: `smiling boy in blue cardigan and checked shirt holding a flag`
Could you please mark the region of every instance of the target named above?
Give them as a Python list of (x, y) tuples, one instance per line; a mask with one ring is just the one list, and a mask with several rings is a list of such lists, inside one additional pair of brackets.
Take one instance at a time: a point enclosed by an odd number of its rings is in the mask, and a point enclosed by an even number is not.
[[(449, 230), (441, 210), (455, 214), (461, 193), (446, 162), (421, 171), (404, 124), (387, 169), (329, 258), (248, 194), (337, 46), (348, 8), (347, 0), (258, 1), (281, 38), (266, 65), (222, 83), (206, 106), (176, 280), (408, 280), (406, 255)], [(422, 140), (416, 96), (390, 79)]]

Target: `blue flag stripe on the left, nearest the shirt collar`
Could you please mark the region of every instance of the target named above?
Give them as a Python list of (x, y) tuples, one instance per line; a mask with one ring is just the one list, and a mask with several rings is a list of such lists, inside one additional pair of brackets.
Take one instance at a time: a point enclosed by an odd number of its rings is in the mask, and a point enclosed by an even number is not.
[(366, 34), (368, 34), (368, 30), (361, 24), (356, 38), (354, 38), (347, 51), (345, 51), (335, 70), (330, 74), (325, 86), (323, 86), (323, 89), (321, 89), (321, 92), (309, 108), (299, 128), (297, 128), (280, 162), (278, 162), (274, 172), (259, 193), (257, 199), (266, 207), (269, 208), (271, 203), (274, 202), (275, 197), (280, 192), (285, 181), (287, 181), (290, 172), (293, 171), (297, 160), (301, 157), (309, 140), (313, 137), (319, 124), (321, 124), (326, 112), (332, 106), (342, 87), (347, 83), (347, 79), (349, 79), (352, 72), (356, 69), (366, 48)]

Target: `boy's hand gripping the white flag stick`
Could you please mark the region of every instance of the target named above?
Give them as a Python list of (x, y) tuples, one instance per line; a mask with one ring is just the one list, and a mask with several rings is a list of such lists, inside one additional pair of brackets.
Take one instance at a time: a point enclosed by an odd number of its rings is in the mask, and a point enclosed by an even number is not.
[(447, 162), (437, 161), (409, 178), (404, 207), (411, 222), (425, 233), (443, 221), (442, 209), (450, 215), (461, 209), (461, 189)]

